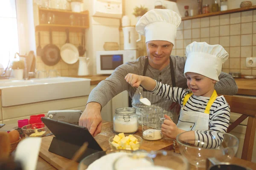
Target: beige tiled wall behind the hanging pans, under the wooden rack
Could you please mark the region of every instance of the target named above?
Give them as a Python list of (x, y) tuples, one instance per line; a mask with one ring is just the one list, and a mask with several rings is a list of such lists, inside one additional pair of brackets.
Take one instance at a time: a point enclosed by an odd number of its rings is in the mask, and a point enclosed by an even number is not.
[[(45, 45), (49, 44), (49, 32), (40, 31), (40, 35), (41, 35), (41, 48), (44, 48)], [(35, 34), (35, 40), (36, 40), (36, 47), (38, 47), (38, 32), (36, 32)], [(58, 48), (61, 49), (61, 46), (64, 45), (65, 42), (66, 42), (65, 32), (52, 31), (52, 43), (54, 45), (57, 45)], [(81, 44), (81, 33), (70, 32), (70, 43), (78, 47), (79, 44)], [(78, 65), (79, 65), (79, 61), (77, 61), (75, 64), (67, 64), (62, 59), (60, 59), (60, 61), (56, 65), (49, 66), (44, 64), (44, 62), (41, 59), (41, 56), (36, 57), (36, 69), (38, 71), (58, 70), (61, 76), (64, 76), (64, 77), (77, 76)]]

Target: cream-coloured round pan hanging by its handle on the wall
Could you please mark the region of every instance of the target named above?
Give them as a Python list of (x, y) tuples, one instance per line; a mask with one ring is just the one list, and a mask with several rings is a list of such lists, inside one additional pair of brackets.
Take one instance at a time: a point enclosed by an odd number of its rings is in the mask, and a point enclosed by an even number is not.
[(67, 64), (74, 64), (77, 62), (79, 57), (79, 51), (75, 45), (69, 42), (69, 30), (66, 29), (67, 40), (66, 43), (61, 47), (61, 58)]

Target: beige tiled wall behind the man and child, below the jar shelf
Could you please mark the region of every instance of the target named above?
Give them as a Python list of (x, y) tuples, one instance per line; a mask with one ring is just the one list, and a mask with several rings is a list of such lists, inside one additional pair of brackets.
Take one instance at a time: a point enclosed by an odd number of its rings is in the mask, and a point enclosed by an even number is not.
[[(139, 56), (146, 55), (145, 37), (137, 43)], [(186, 46), (191, 42), (220, 44), (230, 54), (222, 71), (242, 75), (256, 75), (256, 68), (247, 68), (246, 57), (256, 57), (256, 10), (204, 17), (181, 22), (177, 31), (172, 55), (185, 56)], [(123, 34), (120, 34), (123, 49)]]

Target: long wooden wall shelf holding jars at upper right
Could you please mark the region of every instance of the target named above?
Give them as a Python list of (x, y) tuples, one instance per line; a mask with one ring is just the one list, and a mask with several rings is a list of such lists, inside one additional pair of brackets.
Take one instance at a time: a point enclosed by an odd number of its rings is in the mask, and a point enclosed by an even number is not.
[(209, 14), (195, 15), (193, 17), (183, 17), (182, 20), (192, 20), (195, 18), (203, 18), (203, 17), (210, 17), (210, 16), (216, 16), (216, 15), (231, 14), (231, 13), (235, 13), (235, 12), (250, 11), (250, 10), (254, 10), (254, 9), (256, 9), (256, 6), (230, 9), (227, 11), (218, 11), (218, 12), (212, 12)]

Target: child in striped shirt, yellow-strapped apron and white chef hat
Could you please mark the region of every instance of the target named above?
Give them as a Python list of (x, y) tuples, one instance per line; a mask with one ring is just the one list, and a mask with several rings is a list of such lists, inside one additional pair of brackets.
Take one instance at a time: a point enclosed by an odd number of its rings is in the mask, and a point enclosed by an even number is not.
[(125, 80), (133, 87), (142, 85), (148, 91), (181, 105), (177, 125), (169, 116), (164, 115), (166, 120), (161, 128), (164, 135), (176, 139), (179, 133), (195, 130), (188, 136), (195, 139), (191, 144), (206, 148), (218, 147), (221, 136), (216, 141), (209, 133), (201, 133), (200, 130), (227, 132), (230, 107), (224, 96), (217, 95), (214, 85), (219, 81), (221, 66), (227, 60), (228, 53), (221, 45), (192, 42), (186, 47), (186, 57), (184, 76), (189, 89), (170, 87), (136, 74), (127, 74)]

